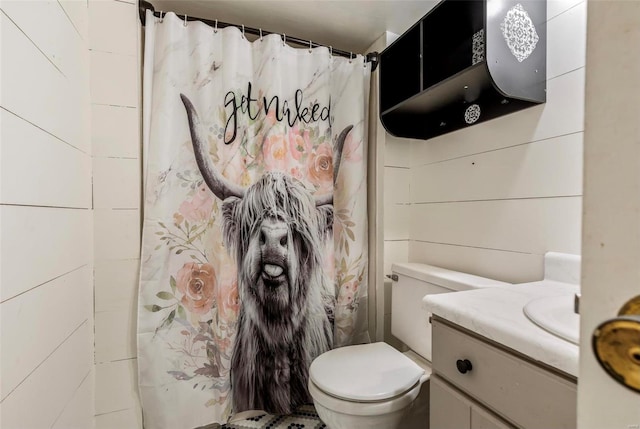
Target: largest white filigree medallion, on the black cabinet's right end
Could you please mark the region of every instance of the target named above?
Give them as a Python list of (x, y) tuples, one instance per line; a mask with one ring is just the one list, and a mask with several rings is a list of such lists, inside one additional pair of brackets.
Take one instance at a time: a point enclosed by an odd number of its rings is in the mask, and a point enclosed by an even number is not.
[(502, 36), (518, 62), (529, 58), (538, 44), (538, 33), (531, 17), (520, 3), (509, 9), (500, 24)]

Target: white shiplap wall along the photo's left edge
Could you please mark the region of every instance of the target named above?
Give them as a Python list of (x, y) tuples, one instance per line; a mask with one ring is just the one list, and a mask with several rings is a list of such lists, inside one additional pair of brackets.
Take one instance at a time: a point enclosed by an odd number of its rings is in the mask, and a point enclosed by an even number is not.
[(85, 1), (0, 2), (0, 426), (93, 426)]

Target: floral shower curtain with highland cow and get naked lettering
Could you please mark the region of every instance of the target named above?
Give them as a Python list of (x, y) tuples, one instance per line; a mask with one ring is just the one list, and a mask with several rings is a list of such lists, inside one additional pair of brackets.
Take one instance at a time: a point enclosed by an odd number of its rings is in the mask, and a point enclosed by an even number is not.
[(361, 55), (147, 12), (138, 376), (147, 429), (309, 403), (368, 342)]

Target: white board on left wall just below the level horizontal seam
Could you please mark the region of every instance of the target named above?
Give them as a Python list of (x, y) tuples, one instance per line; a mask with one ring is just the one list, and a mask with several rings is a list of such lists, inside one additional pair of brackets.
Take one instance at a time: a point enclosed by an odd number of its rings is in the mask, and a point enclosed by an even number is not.
[(91, 211), (1, 206), (0, 301), (92, 262)]

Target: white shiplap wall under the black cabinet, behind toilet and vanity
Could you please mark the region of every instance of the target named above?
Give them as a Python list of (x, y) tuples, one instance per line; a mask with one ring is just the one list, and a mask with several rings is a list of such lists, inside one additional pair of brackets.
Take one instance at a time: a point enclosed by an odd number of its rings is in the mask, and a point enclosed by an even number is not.
[(407, 224), (409, 260), (509, 282), (542, 278), (545, 252), (580, 253), (586, 3), (547, 5), (545, 104), (390, 147), (394, 257)]

